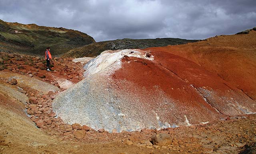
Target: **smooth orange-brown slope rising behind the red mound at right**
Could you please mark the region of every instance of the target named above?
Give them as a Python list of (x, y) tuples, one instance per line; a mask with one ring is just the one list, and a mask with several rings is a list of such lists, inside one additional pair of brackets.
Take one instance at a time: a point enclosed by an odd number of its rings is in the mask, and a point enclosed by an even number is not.
[[(153, 55), (163, 51), (191, 60), (256, 100), (256, 31), (144, 50), (151, 51)], [(176, 71), (184, 69), (178, 68)]]

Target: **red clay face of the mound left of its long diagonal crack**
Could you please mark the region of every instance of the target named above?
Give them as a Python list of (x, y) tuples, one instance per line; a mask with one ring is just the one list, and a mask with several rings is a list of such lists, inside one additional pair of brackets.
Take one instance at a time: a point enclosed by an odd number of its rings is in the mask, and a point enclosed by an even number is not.
[[(169, 57), (177, 57), (172, 54), (168, 55)], [(154, 98), (146, 99), (146, 104), (142, 105), (146, 110), (150, 106), (151, 109), (156, 111), (161, 106), (164, 111), (160, 110), (158, 115), (160, 115), (162, 121), (178, 123), (185, 121), (184, 115), (186, 115), (190, 123), (196, 124), (224, 117), (204, 101), (197, 90), (158, 62), (136, 57), (125, 57), (122, 59), (122, 68), (117, 70), (112, 77), (114, 80), (125, 79), (134, 83), (133, 85), (137, 85), (137, 88), (119, 85), (121, 88), (131, 88), (130, 92), (134, 94), (140, 94), (139, 90), (146, 88), (148, 98)], [(164, 94), (160, 94), (162, 92)], [(140, 99), (144, 100), (144, 95), (141, 94)], [(174, 103), (175, 107), (170, 107), (171, 105), (169, 105), (167, 100), (165, 103), (162, 103), (163, 100), (158, 100), (157, 98), (159, 97), (156, 97), (157, 95), (169, 97), (173, 100), (170, 103)]]

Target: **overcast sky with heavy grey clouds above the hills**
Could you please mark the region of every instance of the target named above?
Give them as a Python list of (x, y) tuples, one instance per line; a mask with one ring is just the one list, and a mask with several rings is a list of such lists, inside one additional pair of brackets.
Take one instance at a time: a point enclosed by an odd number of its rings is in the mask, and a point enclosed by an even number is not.
[(0, 0), (0, 19), (65, 27), (97, 42), (205, 39), (256, 26), (256, 0)]

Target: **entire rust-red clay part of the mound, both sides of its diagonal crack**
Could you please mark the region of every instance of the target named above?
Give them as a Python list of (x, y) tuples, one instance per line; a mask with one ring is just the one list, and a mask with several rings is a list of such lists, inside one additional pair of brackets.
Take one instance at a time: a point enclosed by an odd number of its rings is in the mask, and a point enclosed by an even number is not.
[(140, 94), (141, 89), (146, 89), (149, 94), (162, 95), (159, 93), (162, 92), (173, 99), (175, 109), (168, 109), (170, 105), (159, 104), (160, 101), (154, 98), (142, 104), (144, 109), (150, 109), (150, 106), (154, 110), (159, 105), (163, 106), (165, 111), (160, 113), (163, 121), (175, 119), (176, 122), (186, 115), (191, 123), (196, 123), (206, 120), (206, 117), (211, 117), (208, 120), (223, 117), (220, 113), (240, 115), (256, 111), (251, 105), (255, 104), (253, 100), (196, 63), (166, 52), (153, 51), (151, 54), (155, 59), (153, 61), (135, 57), (123, 58), (122, 68), (112, 77), (114, 80), (126, 80), (138, 86), (118, 85), (121, 89), (131, 88), (128, 91), (132, 93)]

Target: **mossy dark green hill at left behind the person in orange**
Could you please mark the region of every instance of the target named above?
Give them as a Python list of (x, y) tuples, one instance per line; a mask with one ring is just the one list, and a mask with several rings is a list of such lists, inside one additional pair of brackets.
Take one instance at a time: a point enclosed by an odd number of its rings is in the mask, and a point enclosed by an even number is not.
[(44, 55), (49, 46), (52, 55), (62, 55), (91, 43), (95, 43), (94, 39), (80, 31), (0, 20), (0, 51)]

